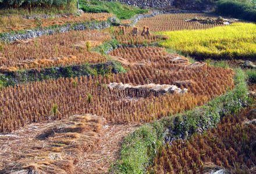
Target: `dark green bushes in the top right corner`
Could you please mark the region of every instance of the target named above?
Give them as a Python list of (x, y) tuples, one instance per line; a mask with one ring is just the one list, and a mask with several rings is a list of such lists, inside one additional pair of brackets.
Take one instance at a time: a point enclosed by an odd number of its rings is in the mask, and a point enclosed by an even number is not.
[(256, 21), (256, 5), (250, 0), (221, 0), (216, 2), (216, 12), (221, 15)]

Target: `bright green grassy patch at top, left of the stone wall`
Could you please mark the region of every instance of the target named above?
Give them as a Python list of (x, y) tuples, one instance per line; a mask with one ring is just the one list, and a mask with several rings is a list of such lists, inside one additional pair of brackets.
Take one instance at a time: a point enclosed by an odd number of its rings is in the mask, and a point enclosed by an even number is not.
[(106, 1), (80, 1), (80, 9), (90, 13), (113, 13), (119, 19), (129, 19), (135, 14), (147, 13), (146, 9), (139, 9), (119, 2), (106, 2)]

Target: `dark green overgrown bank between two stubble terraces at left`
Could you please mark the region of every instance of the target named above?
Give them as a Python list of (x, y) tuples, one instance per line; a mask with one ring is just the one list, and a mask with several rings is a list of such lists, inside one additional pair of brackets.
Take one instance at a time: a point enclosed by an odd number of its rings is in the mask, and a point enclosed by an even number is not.
[[(5, 86), (15, 86), (33, 81), (42, 81), (50, 78), (73, 78), (82, 75), (107, 75), (111, 73), (126, 73), (122, 64), (116, 61), (110, 61), (102, 64), (83, 64), (80, 66), (52, 67), (41, 71), (19, 70), (5, 74), (0, 73), (0, 89)], [(76, 86), (76, 85), (74, 85)]]

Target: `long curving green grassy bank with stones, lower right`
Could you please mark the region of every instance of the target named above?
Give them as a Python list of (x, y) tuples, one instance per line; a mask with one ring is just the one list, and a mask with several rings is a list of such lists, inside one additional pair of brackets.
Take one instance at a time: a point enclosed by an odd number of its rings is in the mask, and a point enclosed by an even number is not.
[(236, 113), (247, 106), (250, 99), (247, 97), (246, 74), (243, 70), (236, 70), (234, 82), (236, 87), (232, 91), (216, 97), (205, 106), (141, 126), (126, 137), (120, 160), (111, 172), (143, 173), (152, 165), (155, 154), (168, 137), (174, 140), (184, 135), (191, 136), (199, 130), (213, 128), (225, 115)]

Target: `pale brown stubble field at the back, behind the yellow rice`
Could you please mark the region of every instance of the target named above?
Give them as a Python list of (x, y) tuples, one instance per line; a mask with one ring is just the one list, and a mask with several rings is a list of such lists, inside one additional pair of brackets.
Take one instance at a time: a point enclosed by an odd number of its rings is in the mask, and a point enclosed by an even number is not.
[(196, 30), (220, 26), (220, 24), (201, 24), (194, 21), (185, 21), (186, 19), (193, 19), (194, 17), (204, 19), (215, 16), (204, 13), (159, 14), (154, 17), (139, 20), (137, 26), (148, 26), (151, 31)]

